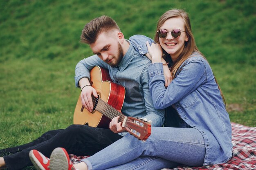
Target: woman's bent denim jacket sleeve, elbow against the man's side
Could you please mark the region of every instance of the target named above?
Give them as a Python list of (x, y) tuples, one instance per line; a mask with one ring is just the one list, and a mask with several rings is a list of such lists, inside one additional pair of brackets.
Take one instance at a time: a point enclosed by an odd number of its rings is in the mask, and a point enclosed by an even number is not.
[(194, 91), (207, 80), (205, 60), (202, 57), (187, 59), (179, 68), (180, 73), (164, 87), (164, 75), (162, 63), (154, 63), (148, 66), (149, 87), (155, 108), (162, 109), (179, 102), (186, 95)]

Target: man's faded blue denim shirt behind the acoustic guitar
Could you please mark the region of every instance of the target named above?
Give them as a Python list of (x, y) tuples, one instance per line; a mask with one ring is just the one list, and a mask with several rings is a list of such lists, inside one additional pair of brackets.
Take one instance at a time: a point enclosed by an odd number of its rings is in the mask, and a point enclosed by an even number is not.
[[(127, 40), (128, 41), (128, 40)], [(129, 42), (129, 41), (128, 41)], [(130, 42), (129, 42), (130, 43)], [(81, 60), (75, 69), (75, 83), (87, 77), (90, 80), (90, 70), (94, 66), (107, 68), (113, 82), (121, 84), (126, 89), (122, 113), (131, 117), (141, 117), (152, 120), (152, 126), (162, 126), (164, 109), (155, 109), (149, 91), (148, 65), (150, 60), (141, 56), (132, 45), (117, 67), (111, 67), (97, 55)]]

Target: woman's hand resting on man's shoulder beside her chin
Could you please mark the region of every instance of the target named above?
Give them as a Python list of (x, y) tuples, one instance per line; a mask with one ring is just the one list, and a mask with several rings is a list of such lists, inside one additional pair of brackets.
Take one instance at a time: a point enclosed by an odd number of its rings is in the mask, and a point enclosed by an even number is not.
[(147, 41), (146, 45), (148, 47), (148, 53), (152, 58), (152, 63), (162, 62), (163, 52), (162, 52), (162, 48), (161, 48), (160, 44), (152, 43), (150, 46), (150, 44)]

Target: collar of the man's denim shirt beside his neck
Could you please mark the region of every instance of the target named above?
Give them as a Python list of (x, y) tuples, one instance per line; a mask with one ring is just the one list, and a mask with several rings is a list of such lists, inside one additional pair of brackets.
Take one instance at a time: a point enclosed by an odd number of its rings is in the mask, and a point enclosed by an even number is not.
[[(126, 40), (126, 41), (130, 44), (129, 40)], [(135, 53), (134, 47), (130, 44), (128, 51), (125, 53), (123, 59), (118, 64), (120, 72), (122, 72), (128, 66), (128, 64), (134, 57), (134, 53)]]

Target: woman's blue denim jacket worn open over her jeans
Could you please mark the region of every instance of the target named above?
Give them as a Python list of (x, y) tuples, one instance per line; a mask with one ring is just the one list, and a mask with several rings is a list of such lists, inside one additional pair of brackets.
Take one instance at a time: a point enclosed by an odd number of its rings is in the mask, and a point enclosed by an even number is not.
[[(138, 44), (140, 35), (132, 38)], [(138, 50), (138, 49), (137, 49)], [(166, 89), (162, 63), (148, 66), (149, 87), (155, 108), (173, 106), (181, 119), (204, 137), (204, 165), (225, 163), (232, 156), (231, 124), (218, 84), (207, 60), (194, 52), (182, 63)]]

